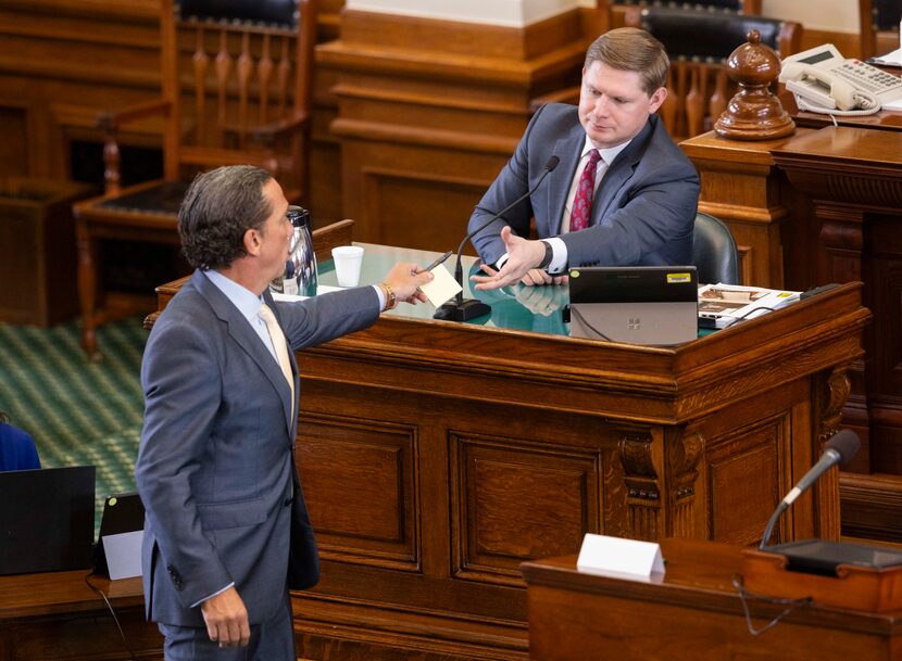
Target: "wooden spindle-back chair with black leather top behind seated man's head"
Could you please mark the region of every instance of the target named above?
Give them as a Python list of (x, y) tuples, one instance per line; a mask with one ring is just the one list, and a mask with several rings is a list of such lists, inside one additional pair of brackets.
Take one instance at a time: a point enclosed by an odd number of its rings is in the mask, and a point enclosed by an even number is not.
[(669, 94), (659, 110), (675, 140), (713, 128), (736, 93), (726, 61), (750, 30), (785, 58), (799, 51), (802, 26), (789, 21), (706, 10), (648, 7), (627, 15), (627, 24), (659, 39), (671, 56)]

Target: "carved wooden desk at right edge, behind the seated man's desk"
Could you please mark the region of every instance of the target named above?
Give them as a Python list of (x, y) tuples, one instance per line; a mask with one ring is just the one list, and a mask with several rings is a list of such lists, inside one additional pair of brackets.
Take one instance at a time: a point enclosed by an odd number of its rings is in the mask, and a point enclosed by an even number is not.
[[(881, 128), (902, 128), (902, 113), (881, 113)], [(865, 360), (851, 371), (843, 424), (862, 437), (849, 470), (898, 475), (900, 485), (873, 488), (861, 478), (843, 492), (851, 513), (879, 505), (874, 523), (850, 520), (850, 532), (902, 541), (902, 130), (873, 126), (799, 129), (771, 142), (737, 142), (706, 134), (682, 148), (702, 180), (699, 207), (737, 234), (755, 278), (751, 283), (804, 290), (828, 282), (864, 282), (874, 312)], [(751, 225), (767, 231), (752, 234)], [(747, 281), (748, 282), (748, 281)], [(845, 521), (843, 519), (843, 521)], [(894, 521), (894, 522), (893, 522)]]

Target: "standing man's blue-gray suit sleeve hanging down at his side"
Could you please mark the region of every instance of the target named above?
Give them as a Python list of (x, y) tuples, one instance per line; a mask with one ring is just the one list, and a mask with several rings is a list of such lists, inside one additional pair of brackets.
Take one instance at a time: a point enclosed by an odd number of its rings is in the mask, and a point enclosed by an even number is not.
[[(185, 608), (233, 582), (201, 530), (191, 475), (213, 433), (222, 373), (209, 333), (199, 323), (160, 325), (145, 349), (145, 424), (135, 466), (138, 491), (162, 567), (181, 582)], [(171, 568), (171, 569), (170, 569)]]

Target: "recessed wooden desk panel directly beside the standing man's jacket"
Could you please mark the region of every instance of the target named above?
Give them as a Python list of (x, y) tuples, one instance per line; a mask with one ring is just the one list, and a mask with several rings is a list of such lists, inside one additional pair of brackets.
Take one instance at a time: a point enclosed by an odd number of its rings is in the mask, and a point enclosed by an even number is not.
[(305, 417), (296, 457), (324, 558), (417, 570), (413, 427)]

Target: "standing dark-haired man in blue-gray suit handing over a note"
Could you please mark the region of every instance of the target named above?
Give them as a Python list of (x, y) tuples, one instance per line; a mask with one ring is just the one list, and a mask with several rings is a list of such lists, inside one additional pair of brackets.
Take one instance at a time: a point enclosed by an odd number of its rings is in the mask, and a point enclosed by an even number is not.
[(320, 571), (293, 460), (291, 349), (424, 301), (418, 288), (433, 278), (399, 264), (378, 287), (277, 304), (267, 285), (288, 258), (287, 209), (268, 173), (229, 166), (198, 176), (178, 213), (197, 270), (145, 349), (135, 467), (147, 611), (167, 661), (295, 661), (288, 589)]

